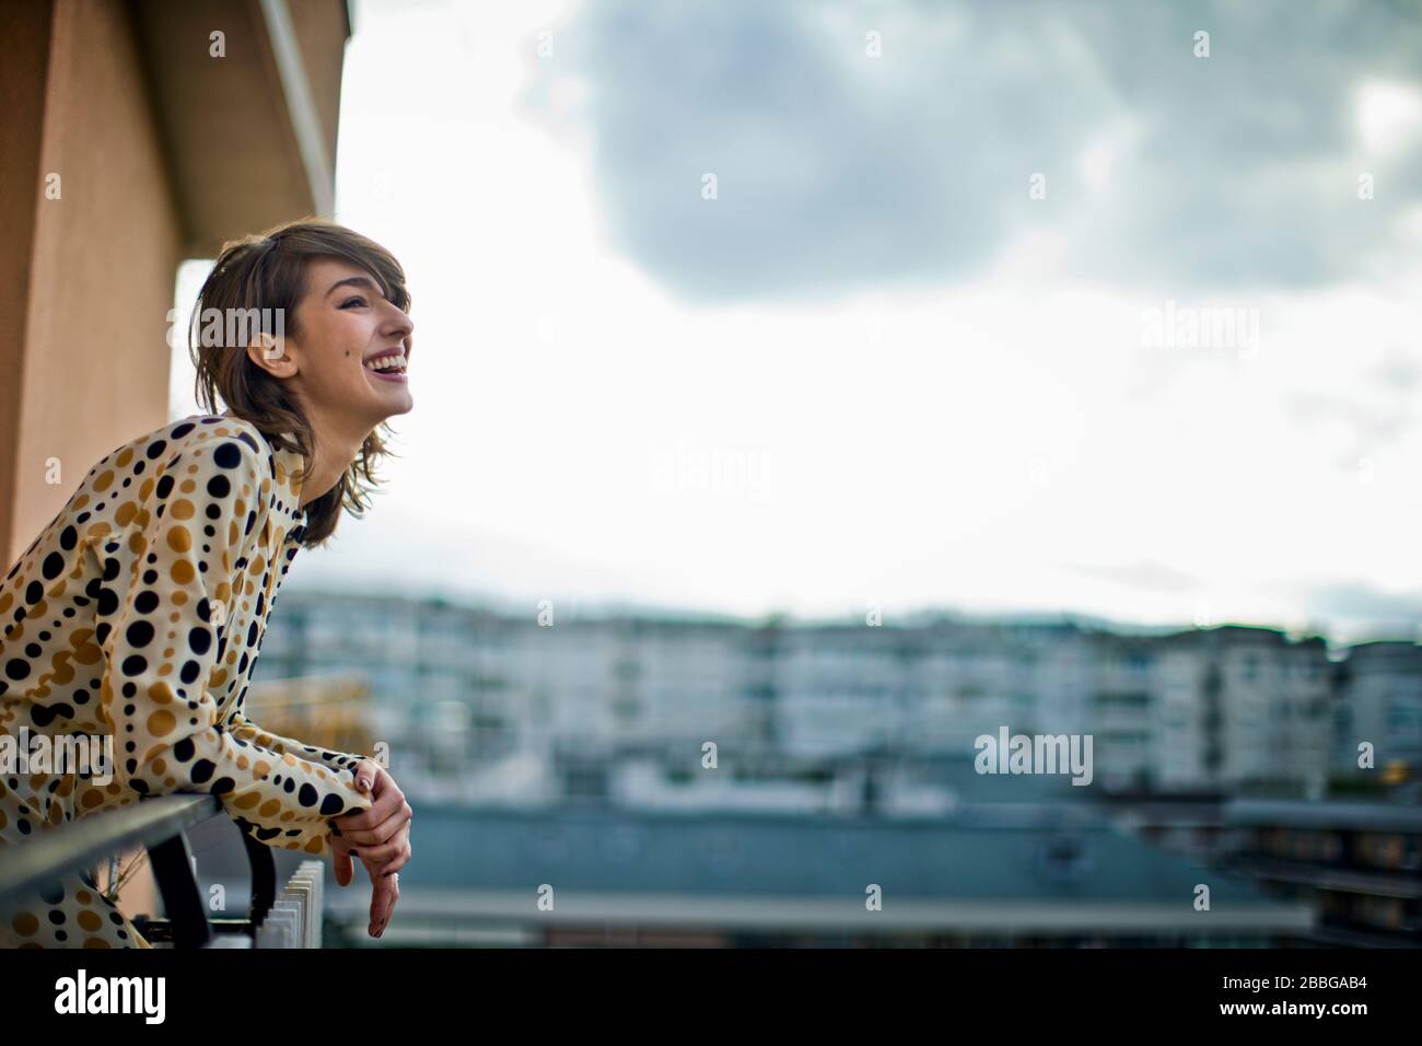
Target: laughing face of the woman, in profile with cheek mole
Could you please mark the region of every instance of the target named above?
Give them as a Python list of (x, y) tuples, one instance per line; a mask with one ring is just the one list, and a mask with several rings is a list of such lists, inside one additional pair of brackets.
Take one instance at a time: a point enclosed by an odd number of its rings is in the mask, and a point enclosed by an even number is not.
[[(405, 370), (415, 324), (381, 295), (373, 273), (334, 258), (307, 262), (294, 329), (287, 353), (310, 414), (370, 431), (414, 408)], [(378, 360), (394, 366), (375, 370)]]

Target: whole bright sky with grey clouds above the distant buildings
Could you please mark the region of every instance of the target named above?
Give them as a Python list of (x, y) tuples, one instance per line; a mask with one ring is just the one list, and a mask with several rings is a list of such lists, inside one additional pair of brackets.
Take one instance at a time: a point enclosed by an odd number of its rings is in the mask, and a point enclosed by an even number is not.
[(357, 3), (337, 159), (417, 407), (292, 585), (1422, 622), (1409, 4)]

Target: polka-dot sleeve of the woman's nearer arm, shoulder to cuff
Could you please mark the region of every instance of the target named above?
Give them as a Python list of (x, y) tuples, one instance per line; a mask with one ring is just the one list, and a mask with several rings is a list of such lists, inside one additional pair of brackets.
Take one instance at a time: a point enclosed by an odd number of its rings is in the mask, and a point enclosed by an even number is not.
[(242, 831), (324, 857), (328, 818), (368, 810), (370, 797), (353, 774), (229, 733), (208, 692), (223, 646), (213, 606), (233, 601), (246, 545), (239, 524), (252, 525), (247, 507), (263, 472), (246, 443), (198, 435), (145, 481), (129, 534), (95, 545), (104, 556), (102, 713), (119, 786), (144, 796), (210, 793)]

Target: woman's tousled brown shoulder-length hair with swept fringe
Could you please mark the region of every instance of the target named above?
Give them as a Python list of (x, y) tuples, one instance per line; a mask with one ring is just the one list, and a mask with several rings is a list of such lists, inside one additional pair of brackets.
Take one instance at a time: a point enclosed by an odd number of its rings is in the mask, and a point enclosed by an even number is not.
[[(307, 262), (317, 258), (334, 258), (367, 269), (387, 299), (410, 310), (405, 270), (394, 255), (341, 225), (303, 218), (223, 245), (212, 273), (198, 292), (193, 322), (189, 323), (189, 356), (198, 370), (195, 386), (203, 410), (220, 413), (220, 396), (236, 417), (262, 430), (273, 447), (299, 450), (309, 458), (314, 455), (316, 433), (283, 383), (247, 357), (246, 347), (252, 339), (199, 337), (201, 330), (210, 332), (212, 327), (203, 327), (198, 319), (218, 317), (222, 330), (232, 330), (228, 324), (230, 317), (237, 316), (243, 322), (242, 330), (247, 330), (246, 320), (250, 317), (262, 333), (297, 334), (296, 306), (306, 295)], [(277, 332), (273, 332), (273, 317), (280, 317)], [(287, 433), (294, 435), (294, 444)], [(360, 455), (340, 482), (306, 507), (303, 546), (323, 544), (336, 531), (343, 507), (357, 518), (364, 515), (371, 490), (380, 485), (375, 465), (381, 457), (391, 454), (383, 434), (391, 434), (385, 423), (365, 437)]]

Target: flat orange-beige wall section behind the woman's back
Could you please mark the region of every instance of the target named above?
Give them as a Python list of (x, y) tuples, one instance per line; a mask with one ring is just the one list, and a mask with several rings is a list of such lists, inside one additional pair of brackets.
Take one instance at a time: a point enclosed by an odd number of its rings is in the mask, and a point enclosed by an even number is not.
[(54, 6), (7, 564), (95, 461), (168, 420), (182, 235), (144, 83), (122, 6)]

